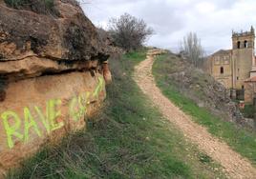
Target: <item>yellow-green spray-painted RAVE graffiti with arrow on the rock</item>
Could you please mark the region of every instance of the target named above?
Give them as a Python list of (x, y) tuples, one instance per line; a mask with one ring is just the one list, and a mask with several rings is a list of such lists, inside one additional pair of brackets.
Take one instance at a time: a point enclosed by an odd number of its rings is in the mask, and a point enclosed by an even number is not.
[[(98, 77), (98, 84), (96, 89), (91, 93), (90, 91), (83, 92), (69, 102), (69, 117), (71, 120), (78, 122), (87, 113), (87, 107), (90, 104), (90, 97), (98, 97), (99, 93), (104, 88), (104, 79)], [(92, 94), (92, 95), (91, 95)], [(60, 121), (61, 110), (58, 108), (62, 105), (60, 99), (52, 99), (46, 103), (46, 115), (42, 109), (34, 106), (33, 110), (38, 120), (32, 115), (32, 109), (24, 108), (24, 120), (14, 111), (7, 110), (1, 114), (2, 124), (7, 135), (7, 144), (10, 149), (14, 147), (14, 141), (19, 140), (24, 143), (30, 141), (30, 133), (34, 132), (38, 137), (42, 137), (42, 132), (38, 123), (41, 123), (47, 134), (51, 134), (56, 129), (61, 129), (65, 126), (63, 121)], [(23, 123), (23, 124), (22, 124)], [(24, 126), (24, 129), (21, 129)], [(22, 130), (22, 132), (21, 132)]]

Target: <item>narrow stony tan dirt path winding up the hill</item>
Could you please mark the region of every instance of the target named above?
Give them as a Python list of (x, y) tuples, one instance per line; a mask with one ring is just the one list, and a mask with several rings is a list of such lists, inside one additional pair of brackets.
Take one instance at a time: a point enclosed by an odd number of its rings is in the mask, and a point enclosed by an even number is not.
[(134, 79), (139, 88), (151, 98), (167, 119), (182, 130), (185, 137), (220, 163), (230, 178), (256, 179), (256, 169), (248, 160), (230, 149), (224, 142), (213, 137), (202, 126), (192, 122), (189, 116), (161, 94), (152, 74), (154, 60), (153, 55), (149, 54), (147, 59), (136, 67)]

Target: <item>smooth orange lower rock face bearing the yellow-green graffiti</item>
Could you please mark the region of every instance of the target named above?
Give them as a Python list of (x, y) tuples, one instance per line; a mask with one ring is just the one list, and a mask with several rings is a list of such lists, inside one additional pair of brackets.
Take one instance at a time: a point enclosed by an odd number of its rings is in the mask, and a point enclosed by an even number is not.
[(18, 162), (46, 142), (85, 126), (85, 116), (105, 98), (104, 80), (90, 72), (42, 76), (11, 83), (0, 104), (0, 169)]

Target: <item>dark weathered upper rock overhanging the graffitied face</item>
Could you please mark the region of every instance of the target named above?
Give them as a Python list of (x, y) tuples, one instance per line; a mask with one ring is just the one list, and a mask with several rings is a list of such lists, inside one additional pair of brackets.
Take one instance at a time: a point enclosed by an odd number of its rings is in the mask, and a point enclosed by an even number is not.
[[(87, 61), (104, 62), (108, 59), (105, 47), (99, 43), (96, 28), (83, 11), (70, 3), (55, 1), (55, 4), (59, 18), (0, 7), (0, 57), (1, 62), (14, 64), (13, 73), (24, 78), (40, 76), (49, 71), (74, 70), (74, 66)], [(33, 65), (38, 63), (34, 74), (17, 69), (23, 63), (20, 61), (28, 58), (33, 58)], [(42, 67), (41, 61), (45, 58), (54, 62), (53, 68)], [(88, 66), (83, 69), (88, 70)], [(13, 76), (10, 68), (8, 71), (1, 69), (1, 73)]]

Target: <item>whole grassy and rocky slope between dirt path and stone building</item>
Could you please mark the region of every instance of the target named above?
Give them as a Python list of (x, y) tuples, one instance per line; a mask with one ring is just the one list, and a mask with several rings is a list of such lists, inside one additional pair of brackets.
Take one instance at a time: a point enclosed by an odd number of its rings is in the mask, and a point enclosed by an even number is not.
[[(181, 73), (178, 71), (179, 69), (182, 69), (183, 76), (187, 76), (187, 78), (181, 77), (181, 79), (178, 79), (178, 77), (176, 77)], [(212, 98), (215, 98), (212, 99), (212, 101), (204, 91), (214, 87), (216, 82), (212, 81), (213, 79), (203, 73), (203, 71), (197, 73), (191, 73), (191, 71), (197, 70), (195, 68), (193, 69), (191, 66), (187, 66), (187, 63), (182, 61), (181, 58), (175, 54), (160, 56), (153, 67), (157, 85), (167, 98), (186, 114), (192, 116), (192, 119), (196, 123), (206, 127), (211, 134), (224, 140), (232, 149), (241, 153), (255, 166), (255, 131), (242, 128), (241, 125), (237, 125), (237, 123), (230, 123), (228, 115), (222, 115), (226, 111), (230, 112), (230, 110), (226, 110), (224, 107), (226, 101), (222, 100), (222, 91), (219, 93), (219, 88), (211, 89), (211, 92), (214, 94)], [(190, 82), (188, 83), (184, 79)], [(190, 86), (187, 86), (187, 84), (190, 84)], [(181, 88), (182, 86), (184, 86), (184, 88)], [(194, 87), (196, 89), (194, 89)], [(223, 97), (223, 99), (225, 98), (226, 97)], [(207, 103), (215, 104), (216, 108), (209, 109), (209, 106), (201, 106), (198, 100), (201, 101), (202, 99), (203, 102), (209, 101)], [(230, 100), (227, 100), (227, 102), (229, 101)], [(219, 106), (221, 108), (219, 108)], [(234, 111), (236, 111), (236, 109)], [(239, 124), (243, 123), (240, 122)]]

